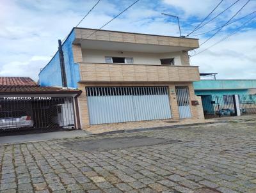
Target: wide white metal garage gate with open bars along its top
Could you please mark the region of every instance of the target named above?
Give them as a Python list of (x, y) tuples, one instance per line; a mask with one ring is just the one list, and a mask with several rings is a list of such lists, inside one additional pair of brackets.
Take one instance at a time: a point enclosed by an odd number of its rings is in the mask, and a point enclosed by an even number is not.
[(86, 87), (90, 125), (172, 118), (168, 87)]

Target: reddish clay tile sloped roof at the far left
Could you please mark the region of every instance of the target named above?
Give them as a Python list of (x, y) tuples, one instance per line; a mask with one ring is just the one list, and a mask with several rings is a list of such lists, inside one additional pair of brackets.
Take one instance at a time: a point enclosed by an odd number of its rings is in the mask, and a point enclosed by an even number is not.
[(3, 86), (38, 86), (38, 84), (29, 77), (0, 77), (0, 87)]

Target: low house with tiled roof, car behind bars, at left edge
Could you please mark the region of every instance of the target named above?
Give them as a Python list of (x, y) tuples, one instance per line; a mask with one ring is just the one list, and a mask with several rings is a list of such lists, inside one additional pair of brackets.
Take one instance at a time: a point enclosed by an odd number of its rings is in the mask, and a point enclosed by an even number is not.
[(0, 77), (0, 131), (81, 128), (76, 108), (80, 93), (77, 89), (40, 87), (29, 77)]

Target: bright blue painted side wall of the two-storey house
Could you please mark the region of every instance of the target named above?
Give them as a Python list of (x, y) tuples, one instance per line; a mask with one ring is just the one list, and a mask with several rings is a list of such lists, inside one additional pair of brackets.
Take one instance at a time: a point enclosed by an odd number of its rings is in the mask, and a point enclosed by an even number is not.
[[(62, 45), (68, 88), (77, 88), (77, 82), (80, 81), (79, 66), (74, 63), (72, 52), (74, 39), (75, 33), (72, 30)], [(51, 61), (39, 73), (39, 81), (41, 86), (62, 86), (59, 52), (56, 52)]]

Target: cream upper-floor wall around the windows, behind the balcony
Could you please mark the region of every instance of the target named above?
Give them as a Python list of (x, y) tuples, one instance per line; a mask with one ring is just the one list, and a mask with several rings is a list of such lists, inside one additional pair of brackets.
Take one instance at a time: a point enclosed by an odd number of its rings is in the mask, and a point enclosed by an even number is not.
[[(83, 49), (83, 62), (84, 63), (105, 63), (105, 56), (114, 57), (127, 57), (133, 58), (133, 63), (136, 65), (161, 65), (160, 59), (163, 58), (175, 58), (175, 65), (184, 65), (182, 60), (182, 52), (170, 52), (170, 53), (145, 53), (145, 52), (123, 52), (112, 50), (89, 50)], [(182, 64), (183, 62), (183, 64)]]

